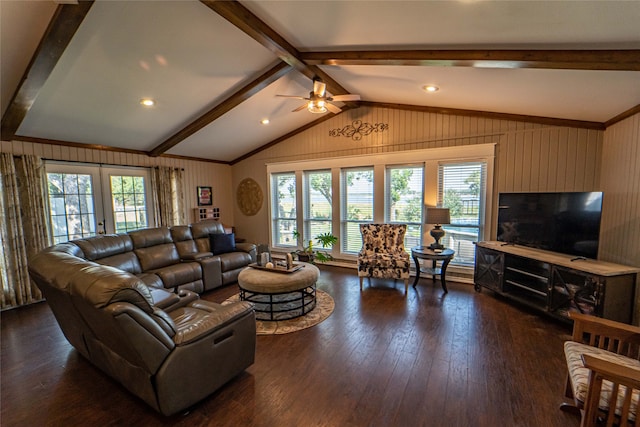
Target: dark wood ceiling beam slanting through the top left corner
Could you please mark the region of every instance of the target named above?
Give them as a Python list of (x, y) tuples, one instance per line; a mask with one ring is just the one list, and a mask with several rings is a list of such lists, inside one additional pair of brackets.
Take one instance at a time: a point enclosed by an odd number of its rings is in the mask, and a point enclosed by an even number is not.
[(62, 4), (56, 9), (51, 22), (27, 67), (20, 85), (2, 116), (1, 136), (14, 139), (20, 124), (26, 117), (40, 89), (44, 86), (58, 60), (71, 42), (80, 24), (93, 6), (93, 1), (78, 4)]

